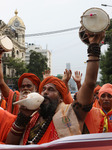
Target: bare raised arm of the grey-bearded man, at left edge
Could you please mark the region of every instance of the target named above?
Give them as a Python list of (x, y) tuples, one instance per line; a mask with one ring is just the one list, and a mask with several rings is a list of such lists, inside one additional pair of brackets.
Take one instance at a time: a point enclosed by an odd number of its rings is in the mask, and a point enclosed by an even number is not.
[(3, 70), (2, 70), (2, 54), (3, 49), (0, 47), (0, 89), (4, 97), (8, 97), (10, 88), (4, 81)]

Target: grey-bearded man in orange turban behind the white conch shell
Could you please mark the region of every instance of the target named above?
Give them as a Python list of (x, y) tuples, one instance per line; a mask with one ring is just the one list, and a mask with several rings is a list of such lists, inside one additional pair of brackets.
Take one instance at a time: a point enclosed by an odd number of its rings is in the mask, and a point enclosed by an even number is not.
[(35, 74), (24, 73), (20, 76), (18, 80), (18, 88), (20, 92), (11, 90), (5, 83), (3, 78), (2, 61), (1, 61), (2, 54), (3, 49), (0, 48), (0, 90), (7, 102), (6, 110), (14, 115), (17, 115), (19, 107), (18, 105), (13, 105), (13, 102), (18, 101), (23, 97), (23, 95), (25, 96), (30, 92), (38, 92), (40, 79)]

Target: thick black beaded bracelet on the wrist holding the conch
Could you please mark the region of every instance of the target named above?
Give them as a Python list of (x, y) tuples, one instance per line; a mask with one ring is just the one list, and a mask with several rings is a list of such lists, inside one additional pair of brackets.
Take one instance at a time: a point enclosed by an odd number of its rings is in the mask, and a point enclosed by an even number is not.
[(16, 126), (25, 127), (30, 121), (31, 117), (24, 115), (22, 112), (18, 113), (17, 119), (15, 121)]

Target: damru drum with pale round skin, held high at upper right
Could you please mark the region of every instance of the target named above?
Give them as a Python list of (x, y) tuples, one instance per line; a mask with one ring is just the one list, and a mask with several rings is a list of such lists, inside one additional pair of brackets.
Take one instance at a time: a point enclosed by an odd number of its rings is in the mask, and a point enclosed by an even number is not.
[(106, 31), (110, 25), (109, 15), (100, 8), (90, 8), (81, 16), (79, 37), (82, 42), (89, 44), (87, 33), (98, 34)]

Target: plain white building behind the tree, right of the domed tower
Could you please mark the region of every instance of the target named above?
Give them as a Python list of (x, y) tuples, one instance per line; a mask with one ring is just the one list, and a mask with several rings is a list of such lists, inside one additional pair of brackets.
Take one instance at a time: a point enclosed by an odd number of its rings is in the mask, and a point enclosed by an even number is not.
[[(52, 63), (51, 63), (51, 52), (46, 48), (46, 49), (42, 49), (41, 46), (37, 46), (34, 43), (28, 43), (27, 44), (27, 49), (26, 49), (26, 54), (25, 54), (25, 61), (27, 64), (29, 64), (30, 61), (30, 51), (33, 50), (35, 52), (41, 53), (43, 56), (46, 56), (46, 58), (48, 59), (47, 61), (47, 66), (50, 68), (50, 70), (52, 69)], [(51, 70), (52, 72), (52, 70)]]

